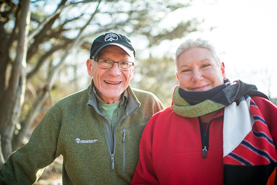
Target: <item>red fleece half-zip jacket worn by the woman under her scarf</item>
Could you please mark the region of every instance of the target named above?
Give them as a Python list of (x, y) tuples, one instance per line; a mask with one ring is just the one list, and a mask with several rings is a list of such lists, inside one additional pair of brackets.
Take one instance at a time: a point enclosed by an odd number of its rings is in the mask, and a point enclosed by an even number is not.
[[(277, 146), (277, 107), (252, 97)], [(213, 118), (224, 114), (224, 109)], [(145, 127), (133, 184), (223, 184), (223, 117), (211, 122), (207, 157), (203, 158), (198, 118), (175, 114), (171, 107), (155, 114)], [(276, 147), (275, 147), (276, 148)]]

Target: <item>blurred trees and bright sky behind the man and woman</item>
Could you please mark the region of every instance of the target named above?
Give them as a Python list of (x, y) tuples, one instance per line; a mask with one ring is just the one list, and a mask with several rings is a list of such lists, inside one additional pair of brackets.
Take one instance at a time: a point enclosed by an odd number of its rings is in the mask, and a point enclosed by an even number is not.
[[(2, 0), (0, 2), (0, 167), (59, 99), (86, 88), (93, 40), (114, 31), (136, 52), (131, 86), (165, 107), (178, 81), (175, 50), (187, 38), (210, 40), (231, 81), (277, 98), (274, 0)], [(28, 25), (28, 26), (26, 26)], [(61, 184), (62, 157), (35, 184)]]

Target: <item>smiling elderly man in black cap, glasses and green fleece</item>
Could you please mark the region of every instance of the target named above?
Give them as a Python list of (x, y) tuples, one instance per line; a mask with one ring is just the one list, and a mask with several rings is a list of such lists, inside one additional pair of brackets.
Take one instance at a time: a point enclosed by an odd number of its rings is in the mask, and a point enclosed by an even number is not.
[(150, 92), (131, 88), (136, 52), (130, 39), (106, 33), (94, 40), (87, 89), (59, 100), (29, 142), (0, 170), (0, 184), (33, 184), (63, 156), (63, 184), (130, 184), (148, 120), (164, 107)]

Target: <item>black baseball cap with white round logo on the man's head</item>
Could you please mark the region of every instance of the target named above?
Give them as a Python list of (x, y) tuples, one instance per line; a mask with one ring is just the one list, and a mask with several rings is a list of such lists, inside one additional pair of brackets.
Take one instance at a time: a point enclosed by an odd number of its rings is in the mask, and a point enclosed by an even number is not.
[(129, 56), (136, 58), (136, 51), (131, 44), (130, 38), (123, 34), (115, 32), (105, 33), (97, 37), (90, 48), (90, 59), (96, 57), (100, 50), (109, 45), (115, 45), (122, 48)]

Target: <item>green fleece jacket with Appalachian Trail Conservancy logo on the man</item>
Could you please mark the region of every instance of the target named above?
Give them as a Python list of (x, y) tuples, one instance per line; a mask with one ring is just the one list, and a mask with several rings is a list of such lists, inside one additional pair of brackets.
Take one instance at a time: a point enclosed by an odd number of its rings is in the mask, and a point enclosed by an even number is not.
[[(139, 141), (148, 120), (164, 107), (150, 92), (128, 86), (128, 103), (115, 127), (115, 141), (92, 92), (69, 95), (54, 104), (30, 140), (0, 169), (0, 184), (33, 184), (44, 167), (63, 156), (64, 185), (130, 184), (139, 159)], [(114, 150), (111, 150), (114, 148)]]

